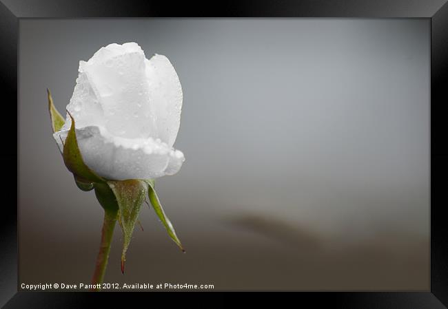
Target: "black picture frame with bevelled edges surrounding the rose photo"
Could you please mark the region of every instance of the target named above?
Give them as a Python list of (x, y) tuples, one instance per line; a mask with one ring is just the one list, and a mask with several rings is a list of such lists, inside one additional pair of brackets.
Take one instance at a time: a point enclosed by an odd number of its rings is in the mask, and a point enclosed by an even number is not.
[[(6, 2), (3, 3), (3, 2)], [(88, 18), (88, 17), (357, 17), (357, 18), (427, 18), (431, 20), (431, 288), (427, 292), (297, 292), (283, 294), (284, 301), (300, 305), (311, 301), (313, 307), (326, 304), (336, 308), (446, 308), (448, 306), (448, 230), (445, 228), (445, 205), (448, 195), (448, 144), (445, 115), (448, 103), (448, 4), (447, 0), (277, 0), (277, 1), (209, 1), (192, 3), (183, 1), (114, 1), (114, 0), (1, 0), (0, 3), (0, 78), (3, 98), (3, 119), (0, 121), (6, 147), (0, 153), (2, 210), (0, 234), (0, 304), (4, 308), (88, 308), (92, 300), (119, 302), (131, 297), (114, 297), (116, 293), (74, 292), (17, 292), (17, 208), (19, 180), (14, 178), (14, 164), (18, 171), (19, 131), (17, 91), (17, 52), (19, 21), (26, 18)], [(37, 98), (41, 100), (41, 98)], [(6, 111), (5, 111), (6, 108)], [(15, 138), (15, 140), (14, 140)], [(16, 147), (13, 147), (16, 145)], [(17, 174), (16, 174), (17, 175)], [(37, 175), (39, 178), (39, 175)], [(17, 180), (14, 191), (14, 181)], [(37, 179), (38, 181), (38, 179)], [(15, 203), (14, 203), (15, 198)], [(406, 214), (403, 213), (403, 216)], [(143, 298), (139, 293), (136, 298)], [(130, 295), (126, 293), (126, 295)], [(147, 297), (150, 304), (163, 298), (185, 302), (190, 293), (177, 293), (176, 297)], [(198, 295), (199, 293), (194, 293)], [(203, 301), (204, 293), (200, 293)], [(252, 293), (253, 294), (253, 293)], [(216, 303), (234, 303), (229, 293), (207, 293), (220, 300)], [(278, 293), (257, 293), (252, 299), (265, 302)], [(284, 297), (287, 297), (285, 299)], [(278, 298), (278, 297), (276, 297)], [(192, 300), (193, 301), (193, 300)], [(277, 304), (278, 301), (276, 301)], [(199, 303), (201, 305), (201, 303)], [(202, 305), (201, 305), (202, 306)], [(291, 306), (291, 305), (288, 305)], [(215, 306), (212, 306), (214, 308)], [(208, 306), (207, 306), (208, 308)]]

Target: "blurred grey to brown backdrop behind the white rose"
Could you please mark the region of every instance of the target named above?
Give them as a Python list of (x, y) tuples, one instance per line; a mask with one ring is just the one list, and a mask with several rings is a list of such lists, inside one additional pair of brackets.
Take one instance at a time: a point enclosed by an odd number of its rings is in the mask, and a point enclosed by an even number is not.
[(429, 19), (20, 21), (19, 281), (89, 283), (103, 211), (52, 138), (80, 60), (135, 41), (183, 86), (152, 209), (107, 282), (216, 290), (429, 290)]

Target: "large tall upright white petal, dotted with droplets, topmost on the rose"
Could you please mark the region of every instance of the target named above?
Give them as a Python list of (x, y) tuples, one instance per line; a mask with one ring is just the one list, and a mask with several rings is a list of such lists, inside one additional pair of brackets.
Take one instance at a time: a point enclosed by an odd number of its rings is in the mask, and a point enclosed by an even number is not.
[[(145, 54), (139, 45), (125, 43), (102, 47), (88, 62), (80, 63), (79, 71), (78, 83), (88, 84), (92, 98), (82, 103), (75, 89), (68, 110), (70, 113), (79, 111), (78, 115), (72, 114), (77, 127), (97, 125), (124, 138), (157, 137), (149, 85), (145, 83)], [(101, 113), (90, 117), (90, 111), (84, 112), (84, 109), (96, 102)]]

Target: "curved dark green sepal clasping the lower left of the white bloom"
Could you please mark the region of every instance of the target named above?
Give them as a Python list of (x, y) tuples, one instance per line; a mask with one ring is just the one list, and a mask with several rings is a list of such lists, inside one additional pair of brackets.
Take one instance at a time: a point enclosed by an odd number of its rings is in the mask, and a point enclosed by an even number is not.
[(84, 180), (84, 182), (105, 182), (103, 178), (96, 175), (83, 161), (81, 152), (78, 147), (77, 134), (74, 126), (74, 119), (72, 119), (72, 125), (68, 131), (67, 138), (65, 139), (65, 144), (63, 145), (63, 159), (65, 167), (73, 173), (75, 178)]

